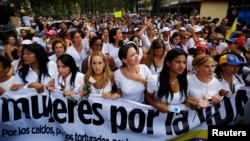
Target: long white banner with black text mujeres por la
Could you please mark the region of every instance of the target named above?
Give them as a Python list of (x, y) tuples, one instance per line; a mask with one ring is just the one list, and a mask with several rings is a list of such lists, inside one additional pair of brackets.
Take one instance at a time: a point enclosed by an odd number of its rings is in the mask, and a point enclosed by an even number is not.
[(167, 114), (122, 98), (91, 95), (75, 103), (60, 92), (8, 91), (0, 96), (0, 140), (206, 140), (208, 124), (250, 123), (249, 92), (244, 87), (216, 106)]

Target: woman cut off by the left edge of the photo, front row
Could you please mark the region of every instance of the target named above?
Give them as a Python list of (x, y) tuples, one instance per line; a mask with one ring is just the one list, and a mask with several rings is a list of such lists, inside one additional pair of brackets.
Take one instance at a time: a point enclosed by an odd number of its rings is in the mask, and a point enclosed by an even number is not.
[(0, 95), (5, 91), (8, 91), (13, 85), (14, 76), (8, 74), (10, 69), (10, 60), (5, 56), (0, 55)]

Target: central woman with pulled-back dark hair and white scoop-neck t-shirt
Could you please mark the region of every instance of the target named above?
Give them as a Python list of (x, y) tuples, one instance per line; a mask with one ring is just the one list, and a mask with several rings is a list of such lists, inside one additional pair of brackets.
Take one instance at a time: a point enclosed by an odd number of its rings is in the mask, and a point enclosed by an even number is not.
[(144, 103), (144, 91), (151, 72), (146, 65), (139, 64), (136, 49), (133, 43), (120, 48), (118, 55), (123, 65), (115, 71), (115, 83), (122, 98)]

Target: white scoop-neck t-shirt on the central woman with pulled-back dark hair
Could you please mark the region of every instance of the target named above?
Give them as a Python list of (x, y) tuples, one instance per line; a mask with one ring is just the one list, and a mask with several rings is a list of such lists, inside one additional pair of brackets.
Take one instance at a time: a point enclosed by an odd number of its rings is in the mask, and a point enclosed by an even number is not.
[[(151, 72), (146, 65), (139, 64), (139, 69), (139, 74), (143, 78), (148, 79), (151, 76)], [(121, 69), (115, 71), (114, 77), (117, 88), (121, 89), (122, 98), (140, 103), (144, 102), (144, 91), (146, 86), (144, 86), (143, 83), (128, 79), (122, 74)]]

